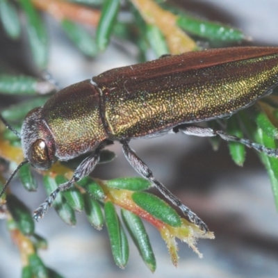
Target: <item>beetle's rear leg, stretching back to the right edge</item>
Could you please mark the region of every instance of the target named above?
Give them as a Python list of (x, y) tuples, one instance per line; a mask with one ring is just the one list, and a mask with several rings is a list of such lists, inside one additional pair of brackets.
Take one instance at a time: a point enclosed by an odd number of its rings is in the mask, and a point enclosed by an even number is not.
[(231, 136), (231, 135), (225, 133), (224, 131), (211, 129), (209, 127), (192, 126), (192, 125), (177, 126), (177, 129), (179, 129), (179, 131), (181, 131), (185, 134), (193, 135), (193, 136), (202, 136), (202, 137), (220, 136), (223, 140), (239, 142), (239, 143), (245, 145), (246, 147), (249, 147), (251, 149), (256, 149), (256, 151), (258, 151), (258, 152), (263, 152), (264, 154), (267, 154), (268, 156), (273, 156), (273, 157), (278, 158), (278, 149), (270, 149), (263, 145), (252, 142), (249, 139)]

